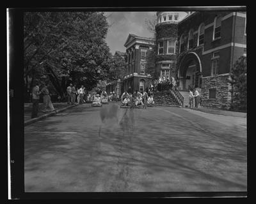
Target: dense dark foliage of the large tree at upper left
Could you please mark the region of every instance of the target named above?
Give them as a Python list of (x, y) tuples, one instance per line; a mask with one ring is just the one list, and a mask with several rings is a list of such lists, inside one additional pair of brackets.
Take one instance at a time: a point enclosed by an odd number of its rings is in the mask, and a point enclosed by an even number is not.
[(109, 73), (107, 32), (100, 12), (24, 13), (25, 81), (48, 79), (61, 95), (70, 81), (92, 89)]

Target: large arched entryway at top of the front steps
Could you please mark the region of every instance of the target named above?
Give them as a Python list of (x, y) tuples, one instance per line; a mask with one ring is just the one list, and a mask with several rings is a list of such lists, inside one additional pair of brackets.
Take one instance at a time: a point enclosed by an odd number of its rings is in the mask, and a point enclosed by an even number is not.
[(179, 89), (188, 90), (201, 88), (202, 86), (202, 65), (200, 58), (194, 52), (187, 54), (179, 67)]

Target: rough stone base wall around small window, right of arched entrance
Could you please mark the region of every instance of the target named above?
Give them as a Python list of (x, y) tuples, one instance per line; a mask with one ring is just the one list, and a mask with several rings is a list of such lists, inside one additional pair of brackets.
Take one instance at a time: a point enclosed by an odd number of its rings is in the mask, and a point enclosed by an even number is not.
[[(230, 108), (231, 93), (228, 84), (229, 75), (202, 78), (202, 106), (208, 108), (220, 108), (228, 110)], [(216, 89), (216, 98), (209, 99), (209, 89)]]

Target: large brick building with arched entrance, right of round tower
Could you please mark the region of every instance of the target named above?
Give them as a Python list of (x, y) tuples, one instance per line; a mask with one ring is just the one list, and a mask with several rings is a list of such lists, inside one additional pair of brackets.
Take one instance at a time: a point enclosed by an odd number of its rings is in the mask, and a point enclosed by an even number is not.
[(178, 24), (179, 90), (201, 92), (202, 106), (228, 108), (230, 69), (246, 54), (246, 12), (196, 11)]

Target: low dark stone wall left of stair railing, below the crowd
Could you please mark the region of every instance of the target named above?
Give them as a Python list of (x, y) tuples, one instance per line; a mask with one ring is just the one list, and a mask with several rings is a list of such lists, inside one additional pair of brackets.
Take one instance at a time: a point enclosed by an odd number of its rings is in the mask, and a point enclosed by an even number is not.
[(154, 92), (154, 101), (160, 105), (179, 105), (170, 91)]

